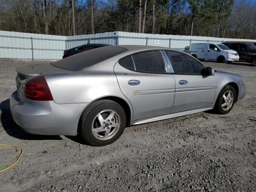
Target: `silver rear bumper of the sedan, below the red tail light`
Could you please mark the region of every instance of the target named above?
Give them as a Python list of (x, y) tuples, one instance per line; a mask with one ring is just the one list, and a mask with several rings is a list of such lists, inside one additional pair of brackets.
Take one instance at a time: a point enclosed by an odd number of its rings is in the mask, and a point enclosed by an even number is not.
[(10, 98), (14, 121), (25, 132), (40, 135), (76, 135), (79, 118), (86, 106), (86, 103), (56, 104), (28, 99), (21, 104), (17, 91)]

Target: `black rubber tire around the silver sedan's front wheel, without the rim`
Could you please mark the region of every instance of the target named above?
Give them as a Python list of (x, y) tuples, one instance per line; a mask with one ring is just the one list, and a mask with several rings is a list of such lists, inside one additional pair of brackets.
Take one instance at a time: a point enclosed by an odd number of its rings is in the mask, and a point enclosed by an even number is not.
[[(224, 93), (226, 93), (227, 91), (231, 91), (232, 92), (232, 94), (233, 94), (233, 101), (232, 101), (232, 105), (230, 106), (230, 108), (228, 109), (228, 110), (224, 110), (223, 108), (222, 108), (222, 103), (223, 103), (223, 95), (224, 95)], [(216, 113), (218, 113), (218, 114), (227, 114), (227, 113), (229, 113), (231, 110), (232, 110), (232, 108), (233, 108), (233, 106), (234, 106), (234, 104), (235, 104), (235, 101), (236, 101), (236, 90), (234, 89), (234, 87), (233, 86), (231, 86), (231, 85), (226, 85), (222, 90), (221, 90), (221, 92), (220, 92), (220, 94), (218, 95), (218, 98), (217, 98), (217, 100), (216, 100), (216, 103), (215, 103), (215, 106), (214, 106), (214, 110), (216, 111)]]

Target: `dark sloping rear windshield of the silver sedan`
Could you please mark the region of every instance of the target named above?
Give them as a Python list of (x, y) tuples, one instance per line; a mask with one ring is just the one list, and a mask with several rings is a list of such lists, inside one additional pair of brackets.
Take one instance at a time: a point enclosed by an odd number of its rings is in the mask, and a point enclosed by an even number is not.
[(90, 67), (96, 63), (102, 62), (110, 57), (125, 52), (126, 50), (127, 49), (121, 47), (100, 47), (69, 56), (56, 62), (52, 62), (52, 65), (67, 70), (77, 71), (86, 67)]

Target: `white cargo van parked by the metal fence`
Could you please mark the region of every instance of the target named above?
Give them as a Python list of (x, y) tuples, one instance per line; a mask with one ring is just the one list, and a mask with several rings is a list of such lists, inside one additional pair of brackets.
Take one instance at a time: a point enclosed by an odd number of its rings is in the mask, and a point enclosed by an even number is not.
[(190, 54), (198, 59), (217, 60), (218, 62), (232, 62), (239, 60), (236, 51), (230, 50), (221, 43), (192, 43)]

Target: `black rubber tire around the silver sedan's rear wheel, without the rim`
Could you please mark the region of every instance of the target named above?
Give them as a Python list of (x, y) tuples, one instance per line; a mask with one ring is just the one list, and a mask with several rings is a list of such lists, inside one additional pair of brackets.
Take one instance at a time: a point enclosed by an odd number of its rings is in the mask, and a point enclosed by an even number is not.
[[(117, 132), (107, 140), (100, 140), (96, 138), (92, 130), (92, 124), (95, 123), (96, 116), (104, 110), (113, 110), (118, 114), (120, 118), (120, 126)], [(124, 132), (126, 126), (126, 114), (122, 106), (112, 100), (98, 100), (91, 103), (82, 113), (80, 123), (78, 125), (78, 131), (82, 138), (86, 140), (92, 146), (104, 146), (111, 144), (118, 140), (118, 138)], [(103, 133), (103, 132), (102, 132)]]

